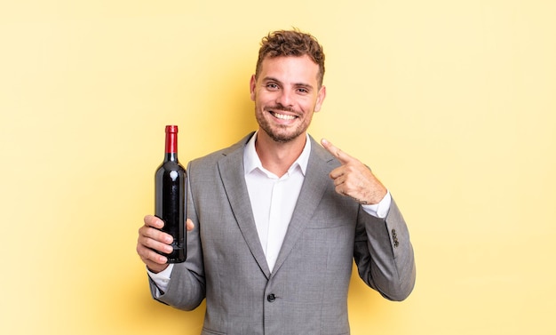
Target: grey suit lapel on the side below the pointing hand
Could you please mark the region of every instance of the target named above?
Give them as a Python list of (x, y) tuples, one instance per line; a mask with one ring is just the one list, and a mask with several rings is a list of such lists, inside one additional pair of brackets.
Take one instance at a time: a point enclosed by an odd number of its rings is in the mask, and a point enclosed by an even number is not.
[(313, 138), (310, 139), (311, 156), (309, 156), (306, 176), (299, 192), (298, 203), (296, 203), (293, 211), (288, 232), (282, 243), (282, 249), (278, 259), (276, 259), (273, 273), (276, 273), (282, 267), (284, 260), (288, 258), (290, 251), (298, 243), (299, 236), (306, 228), (306, 222), (309, 222), (313, 217), (314, 211), (321, 203), (324, 190), (332, 182), (329, 178), (329, 171), (326, 170), (325, 166), (327, 162), (333, 160), (333, 157)]

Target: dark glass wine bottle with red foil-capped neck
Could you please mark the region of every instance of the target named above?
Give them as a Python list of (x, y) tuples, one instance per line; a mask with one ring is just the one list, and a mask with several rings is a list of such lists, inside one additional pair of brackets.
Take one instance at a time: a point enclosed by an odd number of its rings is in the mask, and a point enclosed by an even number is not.
[(174, 238), (173, 251), (166, 254), (168, 263), (186, 260), (187, 172), (178, 161), (178, 126), (166, 126), (166, 149), (163, 164), (155, 173), (155, 216), (163, 219), (162, 231)]

